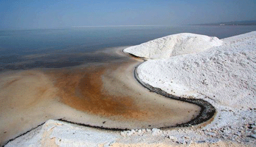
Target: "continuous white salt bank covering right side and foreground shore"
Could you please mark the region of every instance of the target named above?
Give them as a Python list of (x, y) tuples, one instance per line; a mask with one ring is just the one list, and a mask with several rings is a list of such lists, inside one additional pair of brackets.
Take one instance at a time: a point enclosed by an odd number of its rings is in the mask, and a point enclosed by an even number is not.
[[(215, 106), (215, 118), (205, 125), (108, 132), (50, 120), (7, 146), (255, 146), (256, 32), (219, 43), (222, 45), (193, 49), (197, 53), (180, 52), (169, 58), (172, 54), (163, 55), (161, 50), (150, 56), (137, 50), (145, 58), (165, 57), (141, 64), (137, 70), (141, 81), (169, 94), (201, 98)], [(180, 55), (183, 53), (191, 54)]]

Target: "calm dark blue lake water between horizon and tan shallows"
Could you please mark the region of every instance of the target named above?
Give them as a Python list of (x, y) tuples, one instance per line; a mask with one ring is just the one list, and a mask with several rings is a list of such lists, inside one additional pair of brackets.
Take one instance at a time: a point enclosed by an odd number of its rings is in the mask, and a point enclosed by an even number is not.
[(0, 31), (0, 71), (34, 67), (67, 67), (113, 60), (117, 57), (91, 55), (90, 53), (108, 47), (134, 46), (175, 33), (198, 33), (221, 39), (254, 30), (256, 26), (138, 26), (2, 30)]

